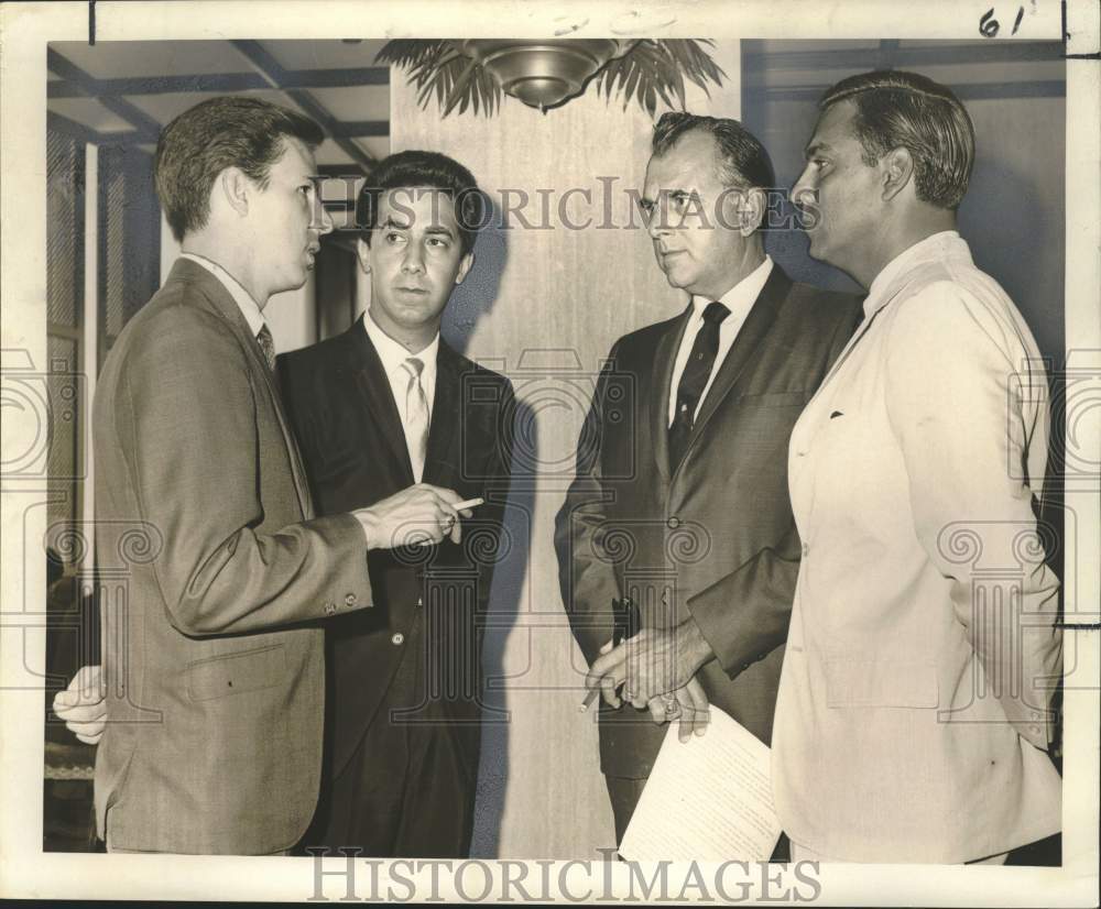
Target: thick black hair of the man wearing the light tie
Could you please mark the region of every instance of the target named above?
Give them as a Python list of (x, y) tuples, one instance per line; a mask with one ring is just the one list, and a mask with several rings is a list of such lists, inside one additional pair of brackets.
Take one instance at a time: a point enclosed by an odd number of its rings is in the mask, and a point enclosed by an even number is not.
[[(378, 227), (382, 195), (391, 189), (418, 188), (435, 189), (450, 198), (462, 255), (469, 253), (484, 226), (486, 198), (473, 174), (455, 158), (417, 150), (388, 155), (363, 180), (356, 200), (356, 226), (367, 232), (367, 244), (371, 244), (371, 232)], [(407, 201), (412, 202), (412, 197)]]

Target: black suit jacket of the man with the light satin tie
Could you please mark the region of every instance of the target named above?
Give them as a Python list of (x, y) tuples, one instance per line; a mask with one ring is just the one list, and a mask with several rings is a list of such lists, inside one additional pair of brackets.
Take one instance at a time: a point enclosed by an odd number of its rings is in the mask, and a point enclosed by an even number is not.
[[(366, 507), (414, 483), (393, 392), (361, 321), (279, 360), (291, 420), (323, 514)], [(403, 658), (433, 667), (433, 705), (410, 722), (438, 720), (462, 738), (477, 773), (481, 638), (510, 475), (512, 386), (443, 340), (428, 429), (426, 483), (486, 504), (462, 522), (462, 543), (373, 550), (377, 607), (330, 624), (330, 769), (339, 773), (374, 719)], [(410, 654), (416, 623), (428, 648)]]

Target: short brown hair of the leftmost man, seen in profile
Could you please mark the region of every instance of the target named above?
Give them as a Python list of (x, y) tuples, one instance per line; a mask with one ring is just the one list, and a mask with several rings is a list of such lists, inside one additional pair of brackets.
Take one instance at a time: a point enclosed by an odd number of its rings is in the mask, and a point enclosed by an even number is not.
[(218, 174), (238, 167), (261, 189), (285, 149), (285, 136), (310, 150), (325, 133), (308, 117), (259, 98), (203, 101), (161, 130), (153, 164), (156, 195), (172, 236), (183, 241), (210, 217), (210, 190)]

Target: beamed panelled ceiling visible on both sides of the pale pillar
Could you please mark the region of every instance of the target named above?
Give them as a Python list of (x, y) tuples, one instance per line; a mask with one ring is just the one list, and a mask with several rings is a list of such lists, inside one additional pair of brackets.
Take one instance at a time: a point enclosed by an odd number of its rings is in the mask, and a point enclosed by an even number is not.
[[(317, 163), (326, 171), (363, 173), (390, 152), (391, 73), (374, 63), (384, 43), (55, 42), (47, 52), (47, 111), (53, 128), (78, 139), (152, 150), (161, 128), (198, 101), (249, 94), (317, 120), (330, 136), (317, 150)], [(1062, 90), (1061, 50), (1051, 42), (746, 41), (743, 87), (767, 84), (817, 98), (821, 72), (875, 68), (884, 51), (891, 61), (919, 66), (964, 91), (966, 83), (977, 78), (1005, 81), (1012, 74), (1004, 63), (1027, 59), (1033, 63), (1027, 78), (1046, 79), (1045, 90)], [(985, 65), (974, 67), (979, 61)]]

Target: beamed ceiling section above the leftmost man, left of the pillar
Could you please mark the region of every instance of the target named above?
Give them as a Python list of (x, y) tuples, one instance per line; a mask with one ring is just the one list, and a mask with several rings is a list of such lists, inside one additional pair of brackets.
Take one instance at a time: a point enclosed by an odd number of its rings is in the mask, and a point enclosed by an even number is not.
[(187, 108), (247, 94), (313, 117), (330, 136), (328, 168), (364, 171), (390, 152), (390, 68), (383, 41), (54, 42), (47, 53), (51, 125), (99, 143), (152, 151)]

